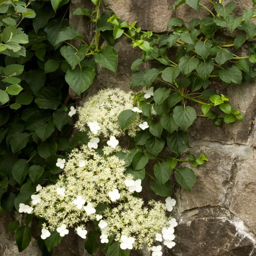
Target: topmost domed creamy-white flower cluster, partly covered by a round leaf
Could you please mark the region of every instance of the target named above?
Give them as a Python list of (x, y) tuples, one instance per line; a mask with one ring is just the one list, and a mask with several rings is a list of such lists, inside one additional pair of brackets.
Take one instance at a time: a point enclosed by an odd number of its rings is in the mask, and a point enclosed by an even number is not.
[[(124, 92), (118, 88), (101, 90), (89, 98), (83, 107), (77, 109), (79, 119), (75, 126), (80, 131), (89, 128), (88, 135), (90, 139), (95, 138), (96, 134), (97, 136), (103, 135), (104, 138), (109, 138), (108, 145), (115, 146), (118, 144), (116, 137), (125, 134), (117, 122), (118, 115), (126, 109), (141, 112), (138, 106), (134, 106), (133, 97), (134, 92), (132, 91)], [(134, 137), (136, 132), (140, 130), (138, 126), (140, 123), (141, 119), (138, 115), (127, 128), (130, 136)], [(94, 146), (96, 145), (94, 144)]]

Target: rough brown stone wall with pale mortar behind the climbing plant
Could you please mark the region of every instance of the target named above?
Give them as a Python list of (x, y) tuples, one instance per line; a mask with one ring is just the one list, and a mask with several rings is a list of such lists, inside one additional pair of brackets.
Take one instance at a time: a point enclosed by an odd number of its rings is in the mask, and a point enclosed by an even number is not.
[[(174, 16), (174, 2), (102, 0), (103, 11), (115, 12), (122, 21), (138, 20), (142, 29), (154, 32), (166, 30), (167, 21)], [(228, 2), (229, 0), (223, 1), (224, 4)], [(251, 0), (235, 2), (236, 15), (243, 15), (245, 8), (252, 7)], [(202, 3), (209, 8), (212, 6), (206, 0)], [(90, 0), (72, 0), (70, 13), (78, 7), (93, 8)], [(188, 22), (192, 18), (208, 15), (206, 10), (200, 9), (201, 12), (198, 13), (187, 5), (181, 5), (175, 16)], [(93, 28), (89, 26), (86, 18), (70, 15), (70, 24), (82, 31), (88, 39), (91, 38)], [(118, 73), (100, 67), (92, 86), (77, 101), (77, 105), (81, 105), (88, 96), (102, 88), (119, 87), (129, 90), (130, 66), (134, 60), (140, 58), (140, 50), (132, 49), (130, 44), (126, 38), (116, 40), (114, 47), (119, 56)], [(242, 50), (239, 54), (243, 56), (246, 52)], [(256, 256), (255, 85), (244, 83), (223, 86), (218, 79), (211, 84), (217, 93), (228, 95), (231, 105), (241, 110), (244, 121), (216, 126), (212, 120), (197, 118), (189, 129), (190, 147), (183, 157), (205, 153), (209, 162), (194, 168), (197, 180), (191, 193), (173, 184), (173, 196), (177, 204), (172, 213), (179, 225), (175, 228), (176, 246), (165, 250), (164, 256)], [(144, 198), (156, 198), (147, 185), (143, 192)], [(6, 222), (10, 218), (6, 215), (2, 220)], [(3, 223), (0, 227), (4, 226)], [(8, 235), (6, 228), (1, 228), (1, 231), (0, 255), (41, 255), (36, 248), (35, 239), (23, 254), (18, 254), (12, 242), (13, 237)], [(37, 238), (39, 234), (35, 233), (34, 236)], [(75, 234), (65, 236), (54, 249), (53, 255), (87, 256), (83, 243)], [(104, 254), (97, 254), (101, 255)], [(149, 256), (149, 253), (146, 250), (134, 251), (131, 256)]]

